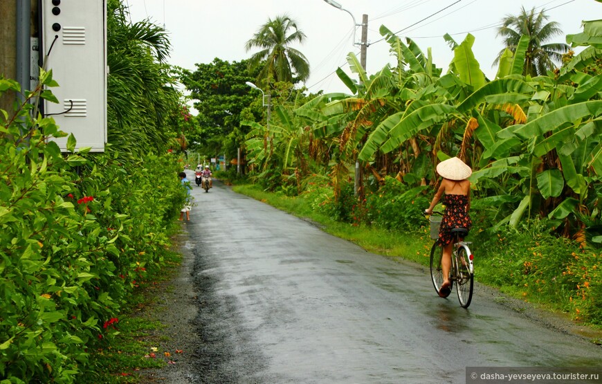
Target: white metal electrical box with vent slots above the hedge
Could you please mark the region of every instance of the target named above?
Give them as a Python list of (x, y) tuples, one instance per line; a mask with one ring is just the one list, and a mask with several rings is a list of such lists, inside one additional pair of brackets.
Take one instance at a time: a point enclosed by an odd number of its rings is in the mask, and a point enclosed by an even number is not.
[[(104, 152), (107, 143), (107, 4), (105, 0), (42, 0), (42, 50), (46, 71), (59, 86), (59, 104), (44, 115), (73, 134), (77, 149)], [(66, 152), (67, 138), (55, 139)]]

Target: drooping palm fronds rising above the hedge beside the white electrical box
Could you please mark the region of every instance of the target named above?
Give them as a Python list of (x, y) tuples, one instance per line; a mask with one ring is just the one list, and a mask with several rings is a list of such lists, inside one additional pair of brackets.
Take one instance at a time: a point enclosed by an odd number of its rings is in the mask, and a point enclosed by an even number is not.
[(181, 107), (166, 63), (170, 41), (164, 28), (132, 24), (127, 12), (120, 0), (107, 3), (108, 140), (122, 154), (162, 153)]

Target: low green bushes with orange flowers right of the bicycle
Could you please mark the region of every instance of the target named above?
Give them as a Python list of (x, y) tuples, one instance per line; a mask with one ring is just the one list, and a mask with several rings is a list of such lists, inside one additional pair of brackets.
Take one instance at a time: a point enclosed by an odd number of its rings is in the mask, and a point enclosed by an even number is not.
[(531, 302), (602, 324), (599, 257), (576, 241), (555, 237), (546, 220), (476, 234), (477, 278)]

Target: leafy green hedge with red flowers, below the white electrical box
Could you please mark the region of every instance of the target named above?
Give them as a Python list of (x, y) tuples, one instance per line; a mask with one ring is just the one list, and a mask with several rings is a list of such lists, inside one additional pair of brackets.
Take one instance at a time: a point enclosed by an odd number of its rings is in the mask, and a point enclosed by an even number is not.
[[(0, 77), (7, 90), (19, 86)], [(0, 383), (71, 383), (161, 265), (184, 196), (171, 154), (125, 164), (73, 153), (73, 136), (62, 154), (48, 138), (65, 134), (33, 108), (0, 110)]]

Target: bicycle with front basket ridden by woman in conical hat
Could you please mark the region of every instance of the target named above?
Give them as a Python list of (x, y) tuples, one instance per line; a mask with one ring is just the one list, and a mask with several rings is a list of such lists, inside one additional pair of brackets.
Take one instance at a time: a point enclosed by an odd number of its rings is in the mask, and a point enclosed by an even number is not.
[(449, 279), (450, 289), (447, 293), (443, 292), (439, 294), (441, 284), (444, 280), (443, 271), (441, 270), (443, 247), (437, 244), (441, 219), (441, 214), (432, 214), (428, 218), (428, 221), (430, 222), (430, 237), (435, 240), (435, 244), (432, 244), (430, 250), (430, 277), (432, 278), (432, 285), (435, 286), (435, 291), (437, 291), (439, 296), (446, 298), (451, 293), (453, 284), (456, 284), (460, 305), (463, 308), (468, 308), (468, 306), (471, 305), (471, 300), (473, 300), (475, 270), (473, 265), (473, 254), (471, 253), (470, 248), (468, 248), (468, 244), (472, 243), (463, 241), (464, 237), (468, 235), (468, 230), (466, 228), (455, 228), (451, 230), (454, 240)]

